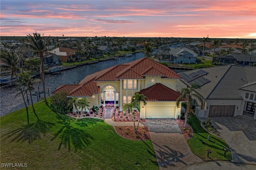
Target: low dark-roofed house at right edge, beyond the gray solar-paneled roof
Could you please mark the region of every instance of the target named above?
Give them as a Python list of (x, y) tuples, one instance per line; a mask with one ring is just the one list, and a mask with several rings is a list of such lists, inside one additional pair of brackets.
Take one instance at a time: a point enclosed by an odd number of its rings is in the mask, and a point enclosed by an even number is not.
[(213, 57), (212, 62), (236, 65), (250, 65), (256, 63), (256, 56), (246, 53), (232, 53)]

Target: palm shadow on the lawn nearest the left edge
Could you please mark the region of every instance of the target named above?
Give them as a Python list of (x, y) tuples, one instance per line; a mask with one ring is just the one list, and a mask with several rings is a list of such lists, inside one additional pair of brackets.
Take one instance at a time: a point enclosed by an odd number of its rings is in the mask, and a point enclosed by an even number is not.
[(5, 138), (12, 138), (11, 142), (26, 142), (32, 143), (34, 140), (41, 139), (42, 135), (44, 135), (49, 128), (52, 128), (55, 123), (42, 121), (40, 119), (37, 119), (35, 123), (31, 123), (28, 125), (23, 125), (22, 127), (13, 130), (12, 132), (9, 132), (5, 134)]

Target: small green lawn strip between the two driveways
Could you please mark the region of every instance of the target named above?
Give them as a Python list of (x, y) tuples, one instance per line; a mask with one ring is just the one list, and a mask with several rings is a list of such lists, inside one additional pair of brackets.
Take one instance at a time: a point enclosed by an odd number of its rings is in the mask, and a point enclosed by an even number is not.
[[(190, 114), (190, 118), (188, 119), (188, 124), (194, 130), (194, 137), (187, 140), (188, 145), (192, 152), (201, 158), (202, 160), (231, 160), (230, 151), (226, 153), (226, 158), (224, 157), (223, 147), (228, 148), (228, 144), (210, 133), (208, 133), (202, 126), (200, 125), (200, 120), (194, 114)], [(210, 140), (208, 140), (208, 135), (210, 136)], [(205, 144), (202, 144), (204, 142)], [(211, 150), (211, 154), (209, 154), (209, 158), (207, 157), (207, 150)]]

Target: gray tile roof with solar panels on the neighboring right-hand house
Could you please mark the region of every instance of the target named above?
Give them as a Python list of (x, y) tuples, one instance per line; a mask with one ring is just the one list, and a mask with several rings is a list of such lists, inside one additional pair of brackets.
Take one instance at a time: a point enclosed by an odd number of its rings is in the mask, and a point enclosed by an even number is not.
[[(224, 65), (218, 67), (203, 68), (208, 74), (203, 77), (210, 80), (200, 89), (194, 89), (196, 93), (205, 99), (242, 99), (240, 87), (246, 83), (256, 81), (256, 67), (243, 67), (237, 65)], [(196, 70), (183, 73), (190, 74)], [(184, 79), (181, 80), (190, 86)]]

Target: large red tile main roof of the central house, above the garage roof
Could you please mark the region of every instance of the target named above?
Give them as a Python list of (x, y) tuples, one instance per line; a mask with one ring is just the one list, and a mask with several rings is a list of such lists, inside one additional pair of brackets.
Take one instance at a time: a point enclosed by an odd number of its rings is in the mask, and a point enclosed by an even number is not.
[(58, 87), (54, 93), (58, 91), (66, 91), (68, 96), (92, 96), (98, 94), (100, 87), (97, 81), (120, 81), (120, 79), (145, 79), (145, 76), (158, 75), (163, 79), (181, 79), (181, 76), (169, 69), (168, 67), (157, 63), (156, 61), (144, 57), (122, 65), (97, 71), (87, 75), (78, 85), (74, 85), (73, 89), (68, 87)]

